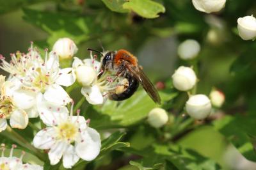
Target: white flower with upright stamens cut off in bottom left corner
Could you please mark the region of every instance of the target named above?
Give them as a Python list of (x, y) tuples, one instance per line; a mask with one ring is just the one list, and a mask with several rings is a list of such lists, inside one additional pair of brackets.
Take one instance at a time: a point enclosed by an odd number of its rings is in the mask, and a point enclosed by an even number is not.
[(1, 144), (1, 150), (2, 150), (2, 155), (0, 157), (0, 169), (1, 170), (9, 170), (9, 169), (10, 170), (19, 170), (19, 169), (23, 169), (23, 170), (43, 170), (44, 169), (42, 166), (38, 166), (38, 165), (23, 164), (22, 163), (22, 158), (25, 154), (24, 151), (22, 152), (20, 158), (13, 157), (13, 150), (16, 147), (17, 146), (15, 144), (13, 144), (9, 157), (4, 157), (4, 150), (6, 148), (5, 148), (4, 144)]

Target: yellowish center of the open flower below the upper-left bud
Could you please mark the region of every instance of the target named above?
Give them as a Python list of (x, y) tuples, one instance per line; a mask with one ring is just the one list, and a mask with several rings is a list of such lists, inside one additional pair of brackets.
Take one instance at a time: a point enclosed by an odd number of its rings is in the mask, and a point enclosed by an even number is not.
[(42, 73), (41, 68), (36, 68), (36, 74), (33, 80), (33, 86), (39, 88), (43, 93), (50, 82), (49, 74)]

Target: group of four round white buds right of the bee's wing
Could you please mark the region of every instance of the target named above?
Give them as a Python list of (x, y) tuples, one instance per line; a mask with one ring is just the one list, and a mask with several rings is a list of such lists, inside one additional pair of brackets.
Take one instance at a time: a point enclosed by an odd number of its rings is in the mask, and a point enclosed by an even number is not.
[[(202, 1), (200, 2), (202, 3)], [(198, 1), (193, 1), (193, 3), (198, 3)], [(200, 44), (196, 40), (186, 40), (180, 43), (178, 47), (178, 55), (183, 60), (195, 59), (199, 52)], [(173, 86), (179, 91), (192, 90), (195, 88), (197, 80), (193, 68), (187, 66), (180, 66), (172, 75)], [(197, 120), (207, 118), (211, 114), (212, 105), (221, 107), (225, 100), (223, 93), (220, 91), (212, 91), (210, 98), (211, 100), (203, 94), (189, 95), (186, 102), (186, 112)]]

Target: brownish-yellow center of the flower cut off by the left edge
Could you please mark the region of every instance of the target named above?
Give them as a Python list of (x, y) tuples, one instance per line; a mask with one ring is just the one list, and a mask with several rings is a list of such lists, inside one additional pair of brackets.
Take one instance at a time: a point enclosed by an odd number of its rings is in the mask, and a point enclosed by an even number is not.
[(12, 100), (8, 96), (2, 96), (0, 98), (0, 119), (9, 118), (10, 114), (14, 110)]

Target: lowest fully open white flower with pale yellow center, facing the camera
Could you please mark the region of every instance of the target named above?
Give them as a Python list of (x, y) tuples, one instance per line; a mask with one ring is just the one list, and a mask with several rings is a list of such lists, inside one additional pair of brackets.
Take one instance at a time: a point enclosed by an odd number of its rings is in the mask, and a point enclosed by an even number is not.
[[(43, 100), (43, 98), (42, 98)], [(70, 115), (66, 107), (41, 105), (42, 109), (51, 112), (41, 112), (40, 118), (47, 125), (40, 130), (33, 139), (33, 144), (41, 150), (50, 150), (48, 153), (51, 165), (58, 164), (63, 157), (63, 166), (71, 168), (79, 158), (90, 161), (99, 155), (100, 135), (88, 127), (83, 116)]]

